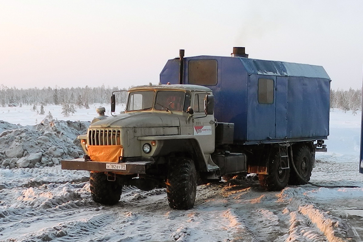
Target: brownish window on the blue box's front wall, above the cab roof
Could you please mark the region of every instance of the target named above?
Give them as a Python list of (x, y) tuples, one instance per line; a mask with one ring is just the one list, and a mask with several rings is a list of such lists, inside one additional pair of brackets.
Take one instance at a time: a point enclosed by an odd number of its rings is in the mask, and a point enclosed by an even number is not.
[(192, 60), (188, 62), (189, 84), (217, 85), (217, 60)]

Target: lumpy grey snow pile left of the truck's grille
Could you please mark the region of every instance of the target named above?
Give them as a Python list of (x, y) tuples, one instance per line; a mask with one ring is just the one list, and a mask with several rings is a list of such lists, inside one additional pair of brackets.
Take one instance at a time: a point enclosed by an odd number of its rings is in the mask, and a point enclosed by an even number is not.
[(43, 120), (35, 126), (0, 121), (0, 168), (43, 168), (83, 156), (76, 140), (90, 122)]

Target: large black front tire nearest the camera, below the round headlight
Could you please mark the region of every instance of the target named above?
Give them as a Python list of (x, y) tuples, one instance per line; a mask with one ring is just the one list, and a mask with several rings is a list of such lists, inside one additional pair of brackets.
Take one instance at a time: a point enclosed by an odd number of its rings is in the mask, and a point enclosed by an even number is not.
[(179, 210), (193, 208), (197, 179), (192, 160), (176, 159), (169, 168), (166, 184), (170, 208)]

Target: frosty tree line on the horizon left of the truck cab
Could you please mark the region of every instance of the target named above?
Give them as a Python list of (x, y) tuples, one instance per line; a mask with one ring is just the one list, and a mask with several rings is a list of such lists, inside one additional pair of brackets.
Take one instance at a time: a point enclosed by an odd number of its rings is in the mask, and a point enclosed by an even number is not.
[[(72, 109), (71, 104), (77, 108), (89, 108), (93, 103), (110, 103), (111, 93), (119, 90), (118, 87), (71, 87), (71, 88), (59, 88), (55, 87), (43, 87), (39, 89), (37, 87), (29, 89), (17, 89), (15, 87), (7, 87), (4, 84), (0, 85), (0, 104), (5, 106), (20, 106), (20, 105), (32, 105), (43, 104), (47, 106), (49, 104), (62, 105), (68, 104), (66, 109)], [(122, 89), (126, 90), (126, 89)], [(126, 103), (126, 92), (120, 93), (117, 98), (117, 103)]]

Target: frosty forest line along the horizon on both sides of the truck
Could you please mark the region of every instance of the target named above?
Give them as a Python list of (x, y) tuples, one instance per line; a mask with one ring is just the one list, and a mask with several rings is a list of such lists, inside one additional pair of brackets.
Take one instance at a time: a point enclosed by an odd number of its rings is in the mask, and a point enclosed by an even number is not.
[[(110, 103), (110, 96), (113, 91), (120, 90), (118, 87), (71, 87), (59, 88), (37, 87), (30, 89), (8, 88), (0, 85), (1, 106), (21, 106), (21, 105), (62, 105), (67, 112), (72, 112), (74, 108), (89, 108), (93, 103)], [(126, 90), (125, 88), (122, 90)], [(120, 93), (117, 103), (126, 103), (126, 92)], [(362, 110), (362, 89), (330, 90), (330, 108), (339, 108), (344, 111)]]

